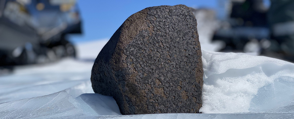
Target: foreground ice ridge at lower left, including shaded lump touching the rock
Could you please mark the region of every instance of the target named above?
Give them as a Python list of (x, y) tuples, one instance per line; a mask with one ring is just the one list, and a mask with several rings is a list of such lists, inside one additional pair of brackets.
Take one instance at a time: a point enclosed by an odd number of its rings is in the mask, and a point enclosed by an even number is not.
[[(93, 110), (95, 109), (95, 110)], [(66, 91), (0, 104), (0, 118), (89, 118), (121, 115), (112, 97), (82, 94), (77, 98)]]

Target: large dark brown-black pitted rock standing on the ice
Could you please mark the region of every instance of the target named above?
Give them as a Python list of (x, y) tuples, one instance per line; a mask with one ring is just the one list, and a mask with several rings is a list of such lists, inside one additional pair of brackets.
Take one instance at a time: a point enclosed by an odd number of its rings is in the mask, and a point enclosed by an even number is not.
[(94, 92), (113, 96), (124, 115), (197, 113), (203, 68), (196, 26), (185, 5), (131, 15), (96, 58)]

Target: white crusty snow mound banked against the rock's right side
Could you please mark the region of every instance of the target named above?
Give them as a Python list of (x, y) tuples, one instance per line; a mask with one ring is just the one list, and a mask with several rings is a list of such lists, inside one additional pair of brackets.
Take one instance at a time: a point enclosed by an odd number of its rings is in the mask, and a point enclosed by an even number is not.
[(203, 113), (265, 112), (294, 104), (294, 64), (202, 51)]

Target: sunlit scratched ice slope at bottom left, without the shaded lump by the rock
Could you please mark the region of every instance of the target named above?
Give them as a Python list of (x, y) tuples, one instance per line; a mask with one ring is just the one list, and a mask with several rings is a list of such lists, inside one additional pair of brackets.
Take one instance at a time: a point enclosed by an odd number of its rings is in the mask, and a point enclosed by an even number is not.
[[(84, 109), (84, 110), (83, 110)], [(0, 118), (75, 118), (93, 115), (95, 112), (86, 109), (68, 93), (62, 91), (43, 97), (29, 98), (0, 104)]]

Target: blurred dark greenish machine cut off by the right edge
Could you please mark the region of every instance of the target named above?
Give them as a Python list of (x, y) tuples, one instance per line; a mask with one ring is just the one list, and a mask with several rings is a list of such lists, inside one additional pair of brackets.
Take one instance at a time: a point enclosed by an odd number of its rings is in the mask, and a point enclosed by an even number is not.
[(279, 52), (283, 59), (294, 61), (294, 1), (271, 0), (268, 10), (268, 23), (275, 39), (273, 46), (265, 53)]

